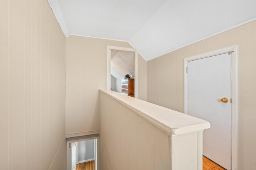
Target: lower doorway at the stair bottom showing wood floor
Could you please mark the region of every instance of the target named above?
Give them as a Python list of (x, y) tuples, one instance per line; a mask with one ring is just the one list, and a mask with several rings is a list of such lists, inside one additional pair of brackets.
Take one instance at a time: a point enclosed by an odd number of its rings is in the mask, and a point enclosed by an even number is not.
[(68, 170), (97, 170), (98, 135), (67, 138)]

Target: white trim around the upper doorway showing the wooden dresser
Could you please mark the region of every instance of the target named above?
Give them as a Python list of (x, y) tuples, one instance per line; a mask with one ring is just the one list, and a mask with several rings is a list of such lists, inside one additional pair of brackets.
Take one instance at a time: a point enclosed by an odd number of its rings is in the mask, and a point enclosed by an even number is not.
[(111, 53), (110, 50), (121, 50), (121, 51), (134, 51), (135, 53), (135, 80), (134, 80), (134, 97), (138, 98), (138, 51), (134, 48), (126, 48), (126, 47), (116, 47), (116, 46), (107, 46), (107, 90), (110, 90), (111, 85), (111, 73), (110, 73), (110, 63), (111, 63)]

